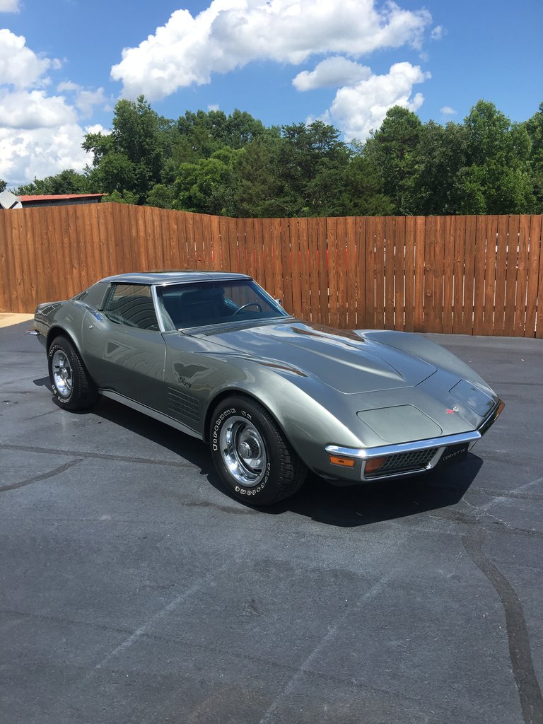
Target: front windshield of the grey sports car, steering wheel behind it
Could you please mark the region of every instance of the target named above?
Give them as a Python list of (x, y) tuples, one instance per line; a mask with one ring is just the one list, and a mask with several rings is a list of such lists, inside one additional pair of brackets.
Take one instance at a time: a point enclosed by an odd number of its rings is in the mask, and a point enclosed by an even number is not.
[(156, 293), (167, 331), (290, 316), (252, 279), (166, 285)]

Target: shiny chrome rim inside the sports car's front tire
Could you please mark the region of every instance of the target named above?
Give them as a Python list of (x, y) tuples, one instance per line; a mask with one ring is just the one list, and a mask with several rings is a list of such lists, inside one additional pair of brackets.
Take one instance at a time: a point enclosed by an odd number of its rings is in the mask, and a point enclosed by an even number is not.
[(266, 446), (256, 427), (245, 417), (232, 416), (224, 421), (219, 448), (232, 478), (245, 487), (253, 487), (266, 472)]

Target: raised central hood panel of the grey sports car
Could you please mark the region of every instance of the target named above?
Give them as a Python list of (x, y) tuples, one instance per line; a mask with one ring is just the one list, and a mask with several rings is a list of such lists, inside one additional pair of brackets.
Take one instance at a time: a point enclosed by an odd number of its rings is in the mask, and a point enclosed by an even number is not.
[(207, 328), (193, 336), (211, 337), (233, 352), (318, 377), (346, 394), (413, 387), (437, 369), (416, 355), (362, 334), (300, 321)]

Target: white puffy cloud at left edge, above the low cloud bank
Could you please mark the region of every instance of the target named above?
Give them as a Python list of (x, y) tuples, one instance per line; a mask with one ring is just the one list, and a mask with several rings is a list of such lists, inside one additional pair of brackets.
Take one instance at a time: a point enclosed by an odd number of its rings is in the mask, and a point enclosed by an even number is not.
[(0, 30), (0, 83), (15, 88), (33, 88), (43, 84), (43, 75), (54, 66), (49, 58), (40, 58), (26, 46), (22, 35)]

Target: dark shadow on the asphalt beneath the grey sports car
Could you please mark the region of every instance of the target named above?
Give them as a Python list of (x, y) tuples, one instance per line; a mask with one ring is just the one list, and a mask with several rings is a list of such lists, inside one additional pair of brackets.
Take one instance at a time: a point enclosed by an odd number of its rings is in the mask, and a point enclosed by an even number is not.
[[(209, 447), (204, 442), (107, 398), (102, 398), (89, 413), (171, 450), (182, 460), (200, 468), (201, 475), (206, 476), (209, 484), (221, 494), (237, 505), (243, 505), (223, 486), (214, 470)], [(349, 487), (336, 487), (308, 473), (303, 487), (287, 500), (269, 508), (244, 507), (247, 511), (263, 515), (295, 513), (331, 526), (364, 526), (456, 505), (473, 483), (481, 465), (481, 458), (469, 453), (462, 463), (426, 475)], [(227, 505), (219, 507), (231, 509)], [(232, 509), (232, 513), (238, 512)]]

